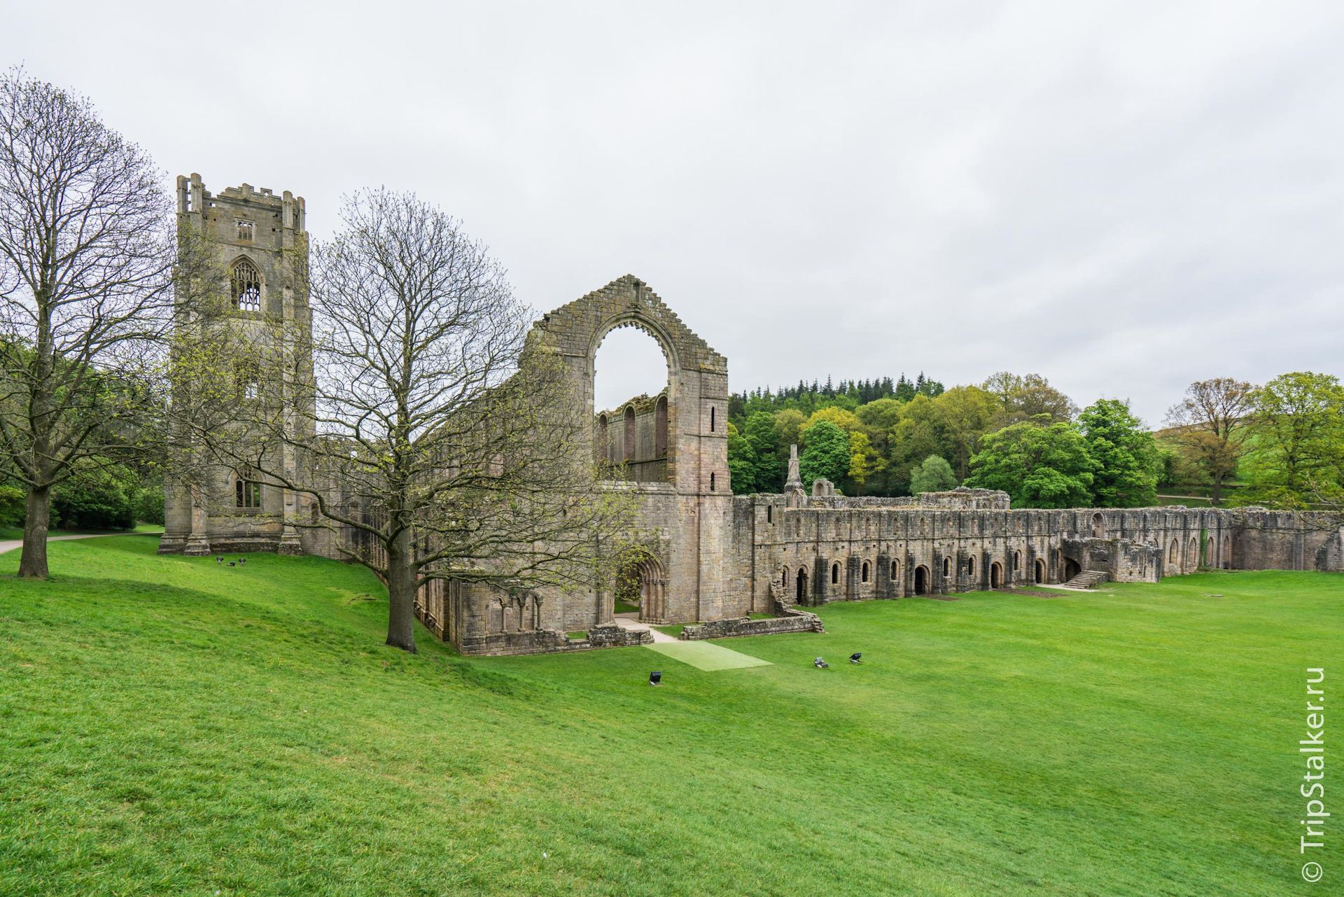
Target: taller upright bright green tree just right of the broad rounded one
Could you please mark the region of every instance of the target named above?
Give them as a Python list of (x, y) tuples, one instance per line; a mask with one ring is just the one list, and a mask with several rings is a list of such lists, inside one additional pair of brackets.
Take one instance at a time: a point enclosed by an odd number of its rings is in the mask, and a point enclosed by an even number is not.
[(1129, 402), (1097, 399), (1078, 414), (1087, 453), (1098, 464), (1093, 479), (1097, 507), (1145, 507), (1157, 503), (1157, 445), (1129, 410)]

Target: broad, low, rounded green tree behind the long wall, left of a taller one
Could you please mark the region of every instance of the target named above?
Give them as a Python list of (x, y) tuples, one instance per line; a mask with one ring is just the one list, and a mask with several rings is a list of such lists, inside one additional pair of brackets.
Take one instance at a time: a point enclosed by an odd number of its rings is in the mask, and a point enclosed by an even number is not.
[(1090, 503), (1098, 465), (1074, 426), (1025, 421), (986, 433), (981, 445), (970, 459), (966, 485), (1003, 490), (1016, 507), (1083, 507)]

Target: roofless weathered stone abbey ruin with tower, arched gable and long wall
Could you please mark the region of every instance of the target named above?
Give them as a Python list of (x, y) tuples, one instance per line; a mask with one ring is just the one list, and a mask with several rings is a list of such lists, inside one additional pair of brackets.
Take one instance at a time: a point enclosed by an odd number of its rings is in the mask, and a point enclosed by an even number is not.
[[(304, 200), (247, 184), (219, 195), (179, 178), (179, 222), (203, 235), (227, 272), (239, 325), (263, 315), (306, 323), (289, 260), (306, 246)], [(810, 490), (790, 465), (781, 495), (732, 495), (727, 459), (727, 359), (630, 276), (543, 315), (534, 325), (593, 409), (594, 359), (616, 328), (637, 327), (663, 350), (667, 389), (593, 414), (591, 452), (605, 488), (637, 495), (620, 577), (638, 620), (687, 625), (683, 637), (809, 631), (801, 607), (1068, 581), (1157, 582), (1199, 568), (1341, 570), (1341, 533), (1298, 515), (1187, 507), (1012, 510), (1004, 492), (848, 498)], [(310, 363), (306, 368), (310, 375)], [(202, 496), (168, 491), (161, 553), (267, 550), (341, 558), (358, 534), (300, 527), (306, 499), (233, 471)], [(220, 510), (226, 508), (226, 510)], [(218, 511), (218, 512), (216, 512)], [(531, 654), (640, 644), (617, 625), (612, 582), (511, 589), (434, 581), (417, 616), (464, 654)], [(749, 615), (769, 615), (749, 619)], [(569, 632), (586, 637), (570, 637)]]

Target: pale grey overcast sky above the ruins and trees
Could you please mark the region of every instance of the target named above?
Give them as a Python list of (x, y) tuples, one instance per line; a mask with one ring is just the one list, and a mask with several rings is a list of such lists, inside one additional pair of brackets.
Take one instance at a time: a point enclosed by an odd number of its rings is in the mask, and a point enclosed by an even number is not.
[[(417, 191), (539, 311), (636, 274), (734, 390), (1039, 371), (1160, 424), (1192, 379), (1344, 374), (1337, 1), (11, 1), (0, 22), (0, 61), (89, 94), (169, 175), (292, 190), (319, 237), (344, 192)], [(599, 362), (612, 402), (645, 387)]]

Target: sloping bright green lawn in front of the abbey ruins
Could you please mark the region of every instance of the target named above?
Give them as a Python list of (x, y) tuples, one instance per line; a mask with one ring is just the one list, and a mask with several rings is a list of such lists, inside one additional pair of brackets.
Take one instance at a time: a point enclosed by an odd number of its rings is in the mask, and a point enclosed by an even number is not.
[(1297, 851), (1339, 576), (827, 607), (702, 672), (409, 656), (363, 570), (153, 550), (0, 578), (3, 894), (1340, 893)]

